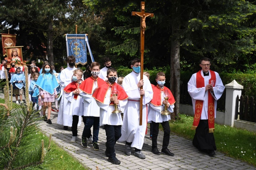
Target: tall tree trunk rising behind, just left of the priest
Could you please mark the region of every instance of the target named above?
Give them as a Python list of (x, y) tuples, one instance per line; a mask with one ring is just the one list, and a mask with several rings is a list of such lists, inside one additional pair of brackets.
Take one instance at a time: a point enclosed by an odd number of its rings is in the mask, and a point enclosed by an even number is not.
[(172, 12), (174, 13), (174, 18), (172, 20), (172, 37), (171, 37), (171, 82), (170, 89), (175, 98), (175, 107), (171, 119), (175, 119), (175, 116), (179, 113), (179, 103), (180, 103), (180, 21), (179, 16), (180, 1), (173, 0)]

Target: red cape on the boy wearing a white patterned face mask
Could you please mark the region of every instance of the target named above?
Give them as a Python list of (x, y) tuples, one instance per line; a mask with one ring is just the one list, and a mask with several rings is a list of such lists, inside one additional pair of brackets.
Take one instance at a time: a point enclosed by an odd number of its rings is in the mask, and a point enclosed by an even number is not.
[(93, 92), (93, 85), (94, 81), (97, 80), (97, 86), (100, 87), (101, 85), (105, 84), (106, 82), (102, 80), (101, 78), (97, 77), (96, 79), (91, 77), (88, 77), (85, 79), (79, 86), (79, 89), (81, 89), (86, 94), (92, 94)]

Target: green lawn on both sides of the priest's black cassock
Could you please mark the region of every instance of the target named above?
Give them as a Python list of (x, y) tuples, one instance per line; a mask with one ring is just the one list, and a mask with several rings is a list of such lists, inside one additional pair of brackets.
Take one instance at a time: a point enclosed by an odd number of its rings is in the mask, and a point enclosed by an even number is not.
[[(193, 117), (184, 114), (179, 117), (170, 122), (171, 132), (192, 140), (195, 134), (195, 130), (191, 130)], [(214, 137), (218, 151), (256, 166), (256, 133), (215, 124)]]

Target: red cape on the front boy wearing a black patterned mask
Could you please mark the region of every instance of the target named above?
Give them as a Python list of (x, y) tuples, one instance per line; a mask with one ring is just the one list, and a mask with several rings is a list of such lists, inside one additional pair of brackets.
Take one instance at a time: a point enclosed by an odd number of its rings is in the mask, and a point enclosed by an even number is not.
[[(111, 87), (111, 90), (112, 90), (113, 86), (115, 86), (116, 89), (118, 90), (118, 94), (117, 94), (117, 99), (118, 100), (125, 100), (125, 99), (128, 98), (128, 95), (126, 94), (126, 92), (123, 90), (123, 88), (119, 84), (117, 84), (117, 83), (109, 84), (109, 82), (107, 82), (107, 83), (105, 82), (105, 84), (100, 86), (93, 93), (92, 97), (95, 98), (95, 100), (99, 101), (100, 103), (104, 103), (104, 99), (106, 97), (108, 89)], [(113, 95), (110, 93), (109, 97), (111, 97), (111, 96), (113, 96)], [(110, 102), (109, 105), (114, 105), (114, 102)]]

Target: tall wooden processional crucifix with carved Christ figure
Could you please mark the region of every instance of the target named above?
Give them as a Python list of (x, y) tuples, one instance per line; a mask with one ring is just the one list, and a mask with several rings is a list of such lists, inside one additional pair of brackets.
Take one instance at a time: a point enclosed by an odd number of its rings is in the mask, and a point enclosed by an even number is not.
[[(145, 2), (141, 1), (141, 12), (132, 12), (133, 16), (139, 16), (141, 17), (141, 80), (143, 80), (143, 56), (144, 56), (144, 35), (145, 35), (145, 29), (146, 29), (146, 17), (154, 17), (153, 13), (145, 13)], [(143, 89), (143, 87), (140, 87), (140, 89)], [(142, 98), (141, 95), (140, 99), (140, 126), (142, 125)]]

